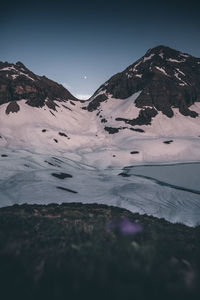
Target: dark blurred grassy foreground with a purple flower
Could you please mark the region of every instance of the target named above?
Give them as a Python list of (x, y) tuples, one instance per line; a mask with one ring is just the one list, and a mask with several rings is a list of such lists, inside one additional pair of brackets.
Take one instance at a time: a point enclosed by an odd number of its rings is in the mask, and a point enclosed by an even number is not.
[(1, 299), (200, 299), (200, 227), (104, 205), (0, 209)]

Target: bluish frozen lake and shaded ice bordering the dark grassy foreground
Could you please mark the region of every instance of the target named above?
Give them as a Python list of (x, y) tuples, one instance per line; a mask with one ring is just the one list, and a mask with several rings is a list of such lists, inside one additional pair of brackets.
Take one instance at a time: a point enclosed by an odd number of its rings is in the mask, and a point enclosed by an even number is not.
[(200, 163), (99, 169), (63, 156), (4, 149), (0, 207), (63, 202), (100, 203), (200, 224)]

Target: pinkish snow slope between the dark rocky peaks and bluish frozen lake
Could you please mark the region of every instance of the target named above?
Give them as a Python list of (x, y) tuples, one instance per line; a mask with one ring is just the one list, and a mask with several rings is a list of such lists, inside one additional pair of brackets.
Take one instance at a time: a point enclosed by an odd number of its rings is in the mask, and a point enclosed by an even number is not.
[[(182, 162), (200, 160), (200, 118), (185, 117), (174, 109), (169, 119), (159, 113), (152, 125), (131, 125), (116, 134), (105, 130), (115, 125), (115, 116), (136, 115), (131, 96), (113, 99), (106, 106), (99, 122), (96, 112), (88, 113), (80, 102), (57, 102), (56, 111), (47, 105), (31, 107), (18, 101), (19, 111), (6, 114), (8, 104), (0, 106), (0, 146), (28, 149), (36, 153), (51, 153), (76, 159), (104, 169), (152, 162)], [(200, 112), (200, 105), (195, 104)], [(185, 120), (187, 118), (187, 120)], [(123, 122), (118, 122), (123, 127)], [(110, 126), (110, 127), (109, 127)], [(137, 131), (139, 130), (139, 131)]]

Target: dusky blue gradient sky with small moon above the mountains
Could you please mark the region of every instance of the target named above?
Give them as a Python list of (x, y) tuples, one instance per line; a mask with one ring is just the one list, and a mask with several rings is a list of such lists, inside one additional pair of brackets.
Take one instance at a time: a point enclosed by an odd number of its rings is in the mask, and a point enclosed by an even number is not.
[(115, 73), (165, 45), (200, 57), (194, 0), (1, 0), (0, 61), (89, 98)]

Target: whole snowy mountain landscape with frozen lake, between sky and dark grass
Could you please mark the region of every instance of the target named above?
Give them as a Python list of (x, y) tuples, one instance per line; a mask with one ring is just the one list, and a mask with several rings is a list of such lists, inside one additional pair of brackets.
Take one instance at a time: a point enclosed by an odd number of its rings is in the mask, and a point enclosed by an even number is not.
[(159, 46), (83, 103), (0, 63), (0, 206), (98, 202), (199, 223), (199, 75), (200, 59)]

